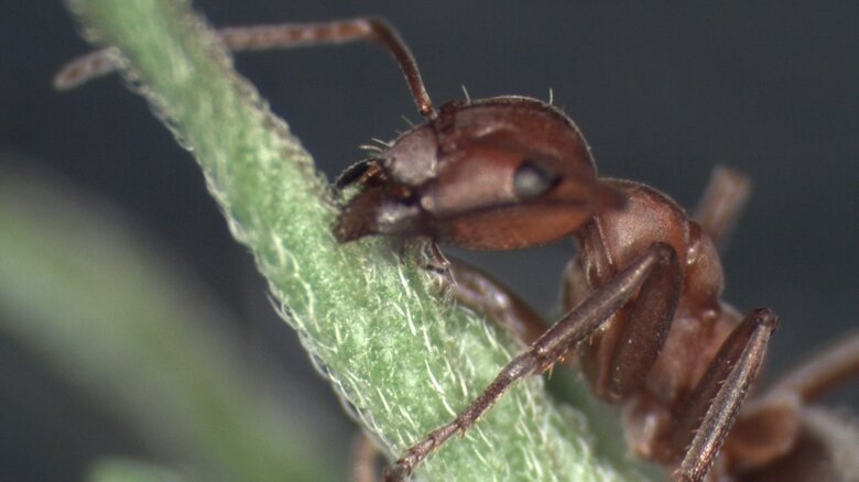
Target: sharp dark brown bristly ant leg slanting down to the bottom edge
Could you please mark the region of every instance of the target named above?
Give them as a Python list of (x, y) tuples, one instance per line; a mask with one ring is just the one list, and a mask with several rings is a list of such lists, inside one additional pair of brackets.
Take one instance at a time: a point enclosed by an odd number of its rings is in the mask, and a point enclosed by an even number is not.
[(667, 437), (672, 458), (685, 452), (677, 470), (679, 480), (699, 482), (707, 474), (758, 376), (778, 322), (769, 309), (749, 314), (725, 340), (695, 391), (683, 403)]

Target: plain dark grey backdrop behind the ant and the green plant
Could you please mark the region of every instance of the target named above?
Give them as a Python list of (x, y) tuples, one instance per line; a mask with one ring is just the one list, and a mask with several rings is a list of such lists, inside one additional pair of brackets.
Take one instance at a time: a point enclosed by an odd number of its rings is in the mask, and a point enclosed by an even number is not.
[[(781, 316), (768, 375), (859, 329), (859, 4), (602, 3), (194, 2), (215, 25), (383, 15), (436, 105), (463, 98), (463, 86), (472, 98), (552, 89), (602, 175), (651, 184), (689, 209), (714, 165), (735, 166), (754, 191), (724, 260), (726, 299)], [(0, 37), (0, 176), (37, 176), (112, 206), (94, 211), (123, 212), (342, 476), (352, 423), (271, 309), (188, 153), (117, 77), (52, 90), (55, 70), (89, 48), (61, 2), (4, 2)], [(361, 158), (359, 144), (407, 129), (402, 116), (420, 121), (395, 64), (372, 45), (244, 54), (237, 66), (329, 177)], [(551, 316), (573, 253), (564, 241), (470, 258)], [(857, 385), (831, 403), (859, 410)], [(0, 404), (1, 480), (78, 479), (105, 453), (161, 457), (102, 398), (1, 330)]]

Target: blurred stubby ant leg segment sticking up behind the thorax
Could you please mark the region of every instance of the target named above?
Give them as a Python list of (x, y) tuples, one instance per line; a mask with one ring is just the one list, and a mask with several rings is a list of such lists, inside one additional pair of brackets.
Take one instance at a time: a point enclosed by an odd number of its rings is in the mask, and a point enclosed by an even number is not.
[(704, 196), (695, 210), (695, 219), (719, 251), (725, 250), (749, 194), (751, 180), (748, 176), (725, 166), (716, 166), (713, 169)]

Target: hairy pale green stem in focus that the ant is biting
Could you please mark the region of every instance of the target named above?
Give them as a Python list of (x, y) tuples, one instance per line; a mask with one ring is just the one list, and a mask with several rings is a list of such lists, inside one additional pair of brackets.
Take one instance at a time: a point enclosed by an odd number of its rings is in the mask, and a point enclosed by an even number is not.
[[(284, 319), (390, 453), (450, 419), (520, 349), (477, 316), (445, 305), (430, 276), (413, 261), (398, 262), (383, 240), (335, 242), (327, 183), (185, 2), (72, 6), (98, 42), (119, 47), (126, 76), (193, 150)], [(520, 383), (421, 473), (617, 479), (575, 420), (547, 399), (539, 379)]]

